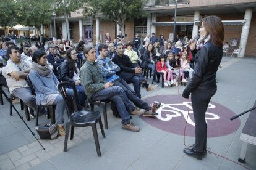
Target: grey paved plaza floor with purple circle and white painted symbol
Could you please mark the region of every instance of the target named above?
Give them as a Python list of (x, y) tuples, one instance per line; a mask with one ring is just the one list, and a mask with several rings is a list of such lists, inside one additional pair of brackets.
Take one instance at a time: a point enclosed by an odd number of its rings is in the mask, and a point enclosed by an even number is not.
[[(239, 163), (242, 146), (239, 137), (249, 114), (232, 122), (229, 117), (252, 108), (255, 103), (256, 59), (223, 57), (221, 64), (223, 67), (217, 73), (218, 91), (208, 107), (207, 149)], [(151, 78), (148, 81), (151, 83)], [(75, 128), (67, 152), (63, 152), (64, 137), (40, 140), (46, 148), (43, 150), (14, 110), (13, 116), (9, 116), (9, 103), (4, 99), (4, 105), (0, 106), (0, 169), (256, 169), (255, 145), (248, 145), (242, 164), (247, 168), (211, 152), (203, 160), (183, 153), (184, 143), (192, 145), (195, 141), (192, 114), (189, 114), (184, 137), (188, 105), (179, 95), (183, 89), (184, 86), (162, 89), (161, 83), (155, 91), (142, 89), (144, 100), (160, 100), (163, 106), (157, 118), (132, 116), (140, 132), (122, 130), (121, 119), (113, 116), (109, 105), (106, 138), (98, 127), (101, 157), (96, 154), (90, 127)], [(25, 119), (20, 105), (15, 107)], [(95, 106), (95, 110), (101, 112), (103, 119), (101, 108)], [(45, 117), (39, 119), (40, 124), (49, 122)], [(35, 119), (26, 123), (38, 137)]]

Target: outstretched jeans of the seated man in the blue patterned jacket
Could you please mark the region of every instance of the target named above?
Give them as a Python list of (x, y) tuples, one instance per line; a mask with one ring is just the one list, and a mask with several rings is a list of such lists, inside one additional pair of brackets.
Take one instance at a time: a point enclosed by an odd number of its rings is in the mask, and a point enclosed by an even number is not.
[(113, 81), (113, 83), (114, 83), (114, 86), (122, 87), (122, 89), (126, 93), (128, 99), (130, 101), (132, 101), (132, 103), (134, 103), (134, 105), (136, 105), (139, 108), (143, 108), (145, 110), (150, 110), (148, 103), (144, 102), (139, 97), (137, 97), (135, 92), (130, 88), (130, 86), (126, 83), (126, 81), (124, 81), (121, 78), (118, 78), (115, 81)]

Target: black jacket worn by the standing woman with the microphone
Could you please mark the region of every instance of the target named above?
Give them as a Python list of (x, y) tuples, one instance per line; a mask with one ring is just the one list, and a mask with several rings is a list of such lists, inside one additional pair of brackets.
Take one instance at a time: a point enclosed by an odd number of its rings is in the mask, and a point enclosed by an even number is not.
[[(197, 50), (192, 51), (192, 55)], [(192, 79), (182, 96), (189, 97), (195, 90), (216, 89), (216, 72), (223, 56), (222, 47), (215, 46), (212, 42), (207, 42), (194, 57), (195, 68)]]

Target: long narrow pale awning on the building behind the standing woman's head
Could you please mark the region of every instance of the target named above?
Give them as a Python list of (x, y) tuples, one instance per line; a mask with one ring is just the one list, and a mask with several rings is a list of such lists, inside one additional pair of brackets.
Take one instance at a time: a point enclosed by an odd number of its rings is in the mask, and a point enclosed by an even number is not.
[[(246, 20), (222, 20), (223, 25), (244, 25)], [(176, 25), (199, 25), (200, 21), (195, 22), (176, 22)], [(151, 22), (155, 26), (173, 26), (174, 22)]]

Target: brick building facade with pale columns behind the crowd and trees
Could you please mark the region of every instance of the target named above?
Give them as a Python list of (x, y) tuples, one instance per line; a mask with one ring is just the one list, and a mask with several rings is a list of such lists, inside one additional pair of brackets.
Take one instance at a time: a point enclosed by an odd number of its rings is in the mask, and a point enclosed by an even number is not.
[[(239, 57), (256, 57), (256, 0), (150, 0), (143, 9), (148, 13), (147, 17), (126, 22), (126, 42), (132, 41), (135, 33), (139, 33), (142, 41), (147, 33), (155, 33), (158, 37), (163, 34), (166, 40), (172, 39), (175, 9), (175, 34), (180, 39), (184, 36), (192, 38), (198, 34), (198, 26), (203, 17), (217, 15), (223, 20), (224, 42), (229, 43), (229, 52), (241, 49)], [(66, 39), (64, 16), (56, 16), (54, 20), (56, 31), (53, 22), (44, 26), (44, 33)], [(119, 26), (109, 18), (85, 18), (82, 9), (70, 15), (69, 27), (70, 37), (74, 42), (92, 40), (96, 43), (97, 39), (104, 41), (106, 33), (115, 38), (119, 31)]]

